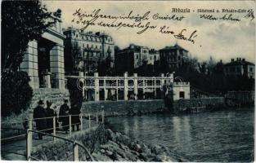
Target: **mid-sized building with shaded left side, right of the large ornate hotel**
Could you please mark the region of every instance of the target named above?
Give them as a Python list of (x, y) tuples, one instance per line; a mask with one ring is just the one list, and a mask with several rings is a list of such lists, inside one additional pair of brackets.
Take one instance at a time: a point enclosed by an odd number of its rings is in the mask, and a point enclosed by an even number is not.
[(122, 72), (140, 67), (143, 63), (154, 65), (159, 60), (159, 51), (146, 46), (131, 44), (123, 50), (115, 52), (115, 68)]

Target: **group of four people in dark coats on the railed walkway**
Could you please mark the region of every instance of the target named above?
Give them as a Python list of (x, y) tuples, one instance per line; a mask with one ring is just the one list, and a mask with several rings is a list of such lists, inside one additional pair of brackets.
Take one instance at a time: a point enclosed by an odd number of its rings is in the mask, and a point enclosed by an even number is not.
[[(43, 100), (38, 101), (38, 106), (34, 108), (34, 121), (36, 122), (36, 128), (38, 131), (45, 132), (47, 134), (53, 133), (53, 117), (56, 118), (56, 129), (59, 129), (59, 122), (61, 122), (62, 129), (67, 133), (70, 127), (70, 115), (71, 116), (71, 126), (74, 130), (74, 126), (77, 126), (79, 130), (80, 125), (80, 108), (78, 104), (73, 104), (70, 108), (68, 106), (68, 99), (64, 100), (64, 104), (61, 105), (59, 111), (59, 117), (57, 118), (56, 112), (51, 108), (51, 101), (47, 100), (47, 108), (44, 108)], [(38, 134), (38, 139), (43, 139), (43, 134)]]

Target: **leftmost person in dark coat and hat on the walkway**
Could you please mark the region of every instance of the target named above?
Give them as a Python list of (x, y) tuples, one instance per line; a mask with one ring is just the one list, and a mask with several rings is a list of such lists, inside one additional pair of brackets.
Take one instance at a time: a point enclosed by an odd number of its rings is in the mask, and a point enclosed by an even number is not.
[[(46, 122), (46, 112), (45, 112), (45, 109), (43, 108), (43, 100), (39, 100), (38, 102), (38, 106), (36, 108), (34, 108), (34, 121), (36, 122), (36, 127), (37, 127), (37, 130), (40, 131), (40, 130), (45, 130), (46, 129), (46, 126), (47, 126), (47, 122)], [(40, 118), (40, 119), (37, 119), (37, 118)], [(42, 131), (44, 132), (44, 131)], [(38, 133), (38, 138), (39, 139), (43, 139), (43, 134), (39, 134)]]

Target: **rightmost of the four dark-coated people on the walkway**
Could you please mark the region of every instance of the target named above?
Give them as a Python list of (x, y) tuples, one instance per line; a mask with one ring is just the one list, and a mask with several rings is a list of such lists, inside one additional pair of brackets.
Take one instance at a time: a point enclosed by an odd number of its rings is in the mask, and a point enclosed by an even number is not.
[(74, 126), (75, 125), (76, 125), (76, 129), (79, 130), (79, 125), (80, 125), (80, 118), (79, 118), (80, 108), (79, 108), (79, 104), (74, 104), (70, 108), (70, 114), (72, 115), (72, 117), (71, 117), (72, 130), (74, 130)]

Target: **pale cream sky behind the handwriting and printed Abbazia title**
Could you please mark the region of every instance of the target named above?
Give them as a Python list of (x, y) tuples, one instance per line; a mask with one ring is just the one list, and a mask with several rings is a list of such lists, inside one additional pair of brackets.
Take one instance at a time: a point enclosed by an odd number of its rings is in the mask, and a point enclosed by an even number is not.
[[(165, 46), (173, 46), (175, 43), (190, 52), (192, 57), (199, 60), (209, 59), (210, 56), (215, 60), (222, 59), (229, 62), (231, 58), (245, 58), (254, 63), (255, 60), (255, 20), (243, 18), (243, 14), (233, 14), (239, 17), (240, 22), (231, 20), (203, 20), (199, 18), (197, 9), (253, 9), (254, 1), (43, 1), (49, 11), (62, 11), (62, 27), (83, 28), (82, 24), (74, 24), (74, 11), (81, 8), (86, 13), (101, 9), (101, 14), (105, 15), (128, 15), (130, 11), (134, 15), (144, 15), (150, 11), (149, 18), (155, 13), (159, 15), (183, 15), (182, 21), (173, 20), (150, 20), (150, 24), (156, 25), (156, 29), (147, 29), (144, 33), (137, 34), (134, 29), (107, 29), (99, 26), (88, 26), (86, 31), (104, 32), (113, 37), (114, 42), (120, 48), (127, 47), (130, 43), (139, 46), (147, 46), (159, 50)], [(171, 13), (173, 8), (189, 8), (191, 13)], [(193, 12), (195, 11), (195, 12)], [(220, 17), (223, 13), (213, 13)], [(145, 23), (146, 24), (146, 23)], [(180, 33), (186, 29), (184, 35), (189, 37), (196, 30), (195, 43), (176, 39), (170, 34), (159, 33), (160, 26), (169, 26), (174, 33)]]

